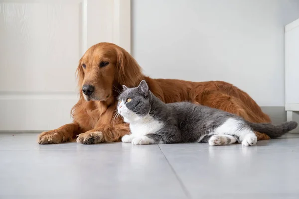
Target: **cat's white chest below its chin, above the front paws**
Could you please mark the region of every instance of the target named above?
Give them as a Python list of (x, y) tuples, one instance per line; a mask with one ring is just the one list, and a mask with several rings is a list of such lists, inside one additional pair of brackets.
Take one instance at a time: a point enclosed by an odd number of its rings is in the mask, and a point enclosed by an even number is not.
[(163, 123), (155, 121), (150, 115), (130, 123), (131, 133), (135, 136), (144, 136), (150, 133), (155, 133), (160, 130)]

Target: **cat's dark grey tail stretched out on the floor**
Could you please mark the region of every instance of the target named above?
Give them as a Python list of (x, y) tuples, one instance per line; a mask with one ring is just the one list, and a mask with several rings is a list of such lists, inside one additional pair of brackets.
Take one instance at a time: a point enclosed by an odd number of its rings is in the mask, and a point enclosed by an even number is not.
[(279, 125), (273, 125), (271, 123), (251, 123), (248, 122), (249, 126), (260, 133), (265, 133), (270, 138), (277, 138), (297, 127), (297, 122), (290, 121), (284, 122)]

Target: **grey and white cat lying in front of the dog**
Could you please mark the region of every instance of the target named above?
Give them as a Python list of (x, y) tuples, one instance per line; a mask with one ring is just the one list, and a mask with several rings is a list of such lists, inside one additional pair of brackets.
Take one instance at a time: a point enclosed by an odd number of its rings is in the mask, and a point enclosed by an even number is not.
[(296, 122), (280, 125), (251, 123), (243, 118), (207, 106), (189, 102), (165, 104), (154, 96), (143, 80), (138, 87), (127, 88), (119, 96), (118, 113), (130, 123), (130, 135), (122, 142), (134, 145), (207, 142), (211, 146), (257, 143), (254, 131), (279, 137), (296, 128)]

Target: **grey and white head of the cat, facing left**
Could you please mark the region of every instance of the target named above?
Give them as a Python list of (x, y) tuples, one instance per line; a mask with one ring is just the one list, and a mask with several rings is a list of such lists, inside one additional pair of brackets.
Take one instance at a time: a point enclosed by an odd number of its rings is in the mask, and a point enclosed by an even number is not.
[(138, 87), (127, 88), (119, 96), (117, 105), (118, 113), (123, 116), (125, 122), (133, 122), (145, 117), (151, 109), (152, 94), (145, 80)]

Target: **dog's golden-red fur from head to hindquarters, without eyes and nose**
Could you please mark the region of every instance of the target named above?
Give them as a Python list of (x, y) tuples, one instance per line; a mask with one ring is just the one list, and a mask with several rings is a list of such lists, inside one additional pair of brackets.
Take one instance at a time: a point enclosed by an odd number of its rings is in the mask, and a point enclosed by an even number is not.
[[(109, 64), (99, 67), (103, 61)], [(86, 68), (82, 67), (83, 64)], [(140, 66), (127, 51), (112, 43), (90, 47), (79, 61), (77, 76), (80, 99), (72, 109), (74, 122), (41, 133), (38, 143), (67, 142), (75, 136), (77, 142), (83, 144), (119, 141), (129, 133), (129, 127), (116, 115), (116, 98), (123, 84), (135, 87), (142, 79), (146, 80), (154, 95), (166, 103), (191, 101), (237, 114), (251, 122), (271, 122), (247, 93), (232, 84), (152, 79), (142, 74)], [(81, 90), (84, 84), (95, 87), (89, 101)], [(269, 139), (265, 134), (256, 134), (259, 140)]]

